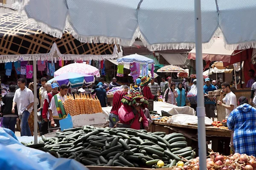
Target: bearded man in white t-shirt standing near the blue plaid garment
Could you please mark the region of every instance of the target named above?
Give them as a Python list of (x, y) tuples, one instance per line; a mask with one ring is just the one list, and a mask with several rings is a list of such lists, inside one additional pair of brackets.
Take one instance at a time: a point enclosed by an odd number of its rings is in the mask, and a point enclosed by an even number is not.
[[(220, 100), (218, 100), (218, 105), (221, 105), (222, 107), (226, 108), (226, 119), (230, 115), (231, 111), (233, 111), (236, 108), (236, 95), (233, 94), (233, 92), (230, 90), (230, 84), (228, 82), (223, 82), (221, 84), (221, 96)], [(226, 96), (223, 98), (224, 93), (226, 93)], [(224, 103), (222, 103), (224, 102)]]

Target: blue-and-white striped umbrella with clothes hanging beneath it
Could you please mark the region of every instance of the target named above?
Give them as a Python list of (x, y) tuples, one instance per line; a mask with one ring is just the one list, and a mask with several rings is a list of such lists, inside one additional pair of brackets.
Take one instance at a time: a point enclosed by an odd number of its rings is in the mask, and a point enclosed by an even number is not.
[(133, 62), (139, 62), (142, 64), (154, 64), (154, 59), (150, 59), (148, 57), (145, 57), (139, 54), (131, 54), (125, 57), (121, 57), (116, 61), (118, 64), (130, 64)]

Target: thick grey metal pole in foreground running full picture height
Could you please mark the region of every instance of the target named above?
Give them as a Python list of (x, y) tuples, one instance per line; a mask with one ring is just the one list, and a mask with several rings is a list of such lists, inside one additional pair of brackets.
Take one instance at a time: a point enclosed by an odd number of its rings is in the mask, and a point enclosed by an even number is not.
[[(201, 0), (195, 0), (195, 52), (196, 52), (196, 75), (203, 75), (203, 57), (202, 57), (202, 21), (201, 21)], [(197, 109), (198, 116), (198, 149), (199, 149), (199, 167), (206, 170), (206, 134), (205, 134), (205, 108), (204, 108), (204, 79), (203, 76), (197, 77)]]

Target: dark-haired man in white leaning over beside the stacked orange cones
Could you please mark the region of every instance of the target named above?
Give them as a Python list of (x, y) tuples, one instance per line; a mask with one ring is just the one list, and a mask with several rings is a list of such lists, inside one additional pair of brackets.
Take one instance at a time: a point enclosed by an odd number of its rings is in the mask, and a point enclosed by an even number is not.
[[(63, 84), (61, 85), (60, 92), (56, 94), (58, 100), (61, 100), (62, 103), (64, 103), (65, 99), (67, 98), (67, 92), (68, 92), (68, 86)], [(49, 106), (49, 116), (50, 116), (50, 121), (51, 121), (51, 126), (52, 127), (60, 127), (59, 123), (59, 116), (58, 116), (58, 111), (56, 108), (56, 103), (54, 96), (52, 97), (50, 106)], [(56, 124), (56, 126), (54, 126)]]

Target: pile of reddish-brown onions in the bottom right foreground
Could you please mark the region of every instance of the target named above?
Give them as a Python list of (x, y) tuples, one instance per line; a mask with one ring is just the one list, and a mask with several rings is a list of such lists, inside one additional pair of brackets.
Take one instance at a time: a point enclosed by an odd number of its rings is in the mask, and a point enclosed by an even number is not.
[[(206, 159), (207, 170), (256, 170), (256, 158), (246, 154), (235, 153), (230, 156), (222, 156), (219, 153), (210, 153)], [(184, 165), (183, 170), (199, 170), (199, 157), (190, 160)], [(174, 170), (180, 170), (177, 167)]]

